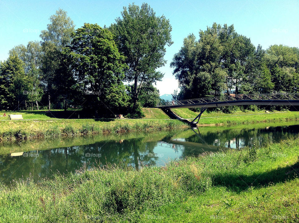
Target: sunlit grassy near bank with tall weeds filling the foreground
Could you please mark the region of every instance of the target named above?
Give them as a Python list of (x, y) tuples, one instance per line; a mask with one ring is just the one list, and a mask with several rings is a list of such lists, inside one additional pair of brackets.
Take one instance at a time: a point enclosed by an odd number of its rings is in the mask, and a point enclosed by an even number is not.
[(299, 139), (1, 186), (5, 222), (297, 222)]

